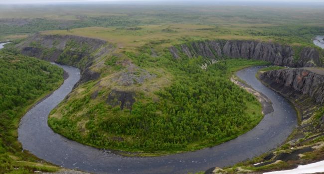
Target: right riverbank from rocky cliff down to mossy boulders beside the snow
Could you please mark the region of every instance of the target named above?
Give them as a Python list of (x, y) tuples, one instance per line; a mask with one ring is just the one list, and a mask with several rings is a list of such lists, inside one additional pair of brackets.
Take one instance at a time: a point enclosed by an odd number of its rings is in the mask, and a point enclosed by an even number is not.
[[(300, 113), (300, 124), (280, 147), (252, 160), (226, 168), (225, 171), (229, 173), (236, 170), (245, 170), (248, 173), (281, 171), (294, 169), (299, 165), (312, 166), (313, 163), (324, 160), (324, 107), (321, 100), (316, 99), (321, 94), (316, 94), (315, 97), (309, 95), (314, 92), (313, 90), (316, 92), (322, 90), (320, 84), (324, 78), (323, 72), (319, 72), (323, 71), (322, 69), (313, 70), (314, 68), (299, 68), (259, 73), (262, 83), (284, 95), (294, 104)], [(304, 82), (306, 79), (308, 82)], [(298, 173), (298, 171), (297, 168), (278, 173)]]

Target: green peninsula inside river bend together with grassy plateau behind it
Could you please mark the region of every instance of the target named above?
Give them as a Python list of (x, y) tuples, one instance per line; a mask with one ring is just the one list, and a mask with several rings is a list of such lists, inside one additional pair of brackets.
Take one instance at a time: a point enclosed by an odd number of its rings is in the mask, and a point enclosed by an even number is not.
[[(52, 111), (49, 125), (56, 132), (83, 144), (142, 152), (140, 155), (144, 156), (197, 150), (248, 131), (262, 118), (261, 105), (254, 98), (249, 98), (250, 94), (246, 91), (233, 85), (229, 77), (241, 68), (265, 63), (220, 60), (204, 71), (199, 65), (205, 64), (207, 59), (188, 59), (180, 55), (181, 59), (175, 60), (166, 48), (216, 38), (272, 40), (300, 48), (310, 45), (310, 36), (320, 34), (322, 27), (308, 26), (310, 32), (305, 32), (302, 26), (289, 22), (291, 32), (283, 35), (276, 32), (276, 27), (284, 30), (284, 24), (264, 24), (262, 20), (265, 18), (262, 17), (256, 23), (251, 22), (255, 18), (250, 18), (249, 22), (233, 20), (230, 25), (225, 25), (225, 20), (222, 20), (232, 17), (217, 18), (219, 25), (212, 24), (212, 18), (200, 19), (203, 22), (199, 24), (192, 24), (196, 20), (193, 18), (187, 23), (169, 24), (166, 21), (168, 18), (164, 18), (166, 24), (159, 25), (140, 25), (139, 22), (135, 26), (41, 32), (44, 35), (100, 38), (116, 46), (113, 53), (93, 63), (91, 69), (101, 72), (101, 80), (77, 87), (69, 99)], [(297, 20), (295, 22), (298, 23)], [(66, 56), (68, 59), (69, 56)], [(139, 70), (129, 70), (129, 62)], [(157, 78), (134, 86), (122, 86), (116, 82), (121, 74), (141, 77), (143, 70), (157, 75)], [(113, 90), (134, 93), (136, 102), (132, 109), (108, 104), (107, 97)]]

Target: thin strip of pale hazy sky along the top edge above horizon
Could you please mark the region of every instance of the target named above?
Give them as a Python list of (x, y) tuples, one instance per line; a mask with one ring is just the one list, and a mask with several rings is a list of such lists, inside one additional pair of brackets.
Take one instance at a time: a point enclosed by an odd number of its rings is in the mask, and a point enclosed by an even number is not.
[[(155, 2), (155, 1), (204, 1), (204, 0), (0, 0), (0, 3), (55, 3), (55, 2), (127, 2), (127, 1), (148, 1), (148, 2)], [(209, 2), (217, 2), (217, 1), (241, 1), (241, 2), (323, 2), (324, 0), (206, 0)]]

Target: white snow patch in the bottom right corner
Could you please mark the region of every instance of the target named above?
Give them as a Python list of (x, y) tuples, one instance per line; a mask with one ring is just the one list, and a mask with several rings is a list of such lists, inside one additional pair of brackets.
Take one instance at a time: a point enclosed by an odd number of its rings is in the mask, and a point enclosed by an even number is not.
[(324, 161), (312, 163), (304, 166), (298, 166), (298, 168), (288, 171), (276, 171), (267, 172), (263, 174), (314, 174), (318, 172), (324, 172)]

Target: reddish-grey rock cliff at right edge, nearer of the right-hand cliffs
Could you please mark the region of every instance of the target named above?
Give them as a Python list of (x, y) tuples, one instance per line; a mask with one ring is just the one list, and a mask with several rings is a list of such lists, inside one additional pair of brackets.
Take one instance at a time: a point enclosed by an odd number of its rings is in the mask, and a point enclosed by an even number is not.
[(316, 103), (324, 103), (324, 75), (296, 68), (268, 71), (260, 75), (260, 79), (277, 90), (290, 88), (312, 97)]

